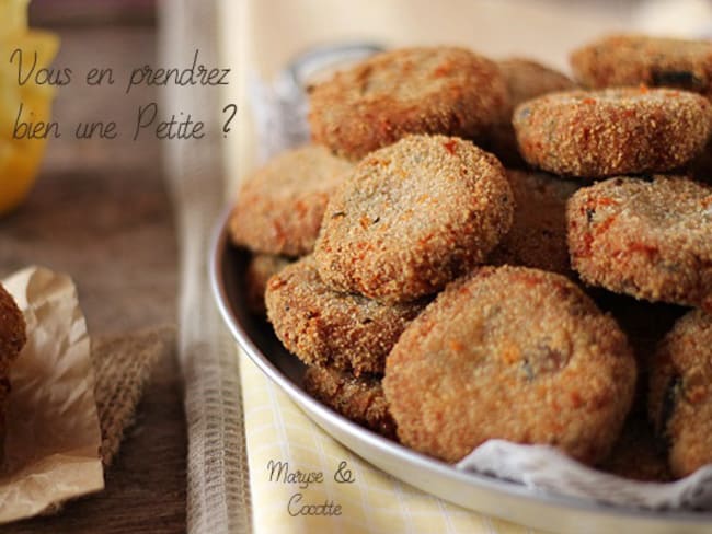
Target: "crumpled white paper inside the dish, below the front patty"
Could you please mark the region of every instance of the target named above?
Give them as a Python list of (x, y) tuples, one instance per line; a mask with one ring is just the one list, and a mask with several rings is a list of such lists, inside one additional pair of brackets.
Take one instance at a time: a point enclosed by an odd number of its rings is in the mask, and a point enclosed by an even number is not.
[(457, 468), (618, 507), (712, 510), (712, 466), (674, 483), (642, 483), (592, 469), (551, 446), (490, 440)]

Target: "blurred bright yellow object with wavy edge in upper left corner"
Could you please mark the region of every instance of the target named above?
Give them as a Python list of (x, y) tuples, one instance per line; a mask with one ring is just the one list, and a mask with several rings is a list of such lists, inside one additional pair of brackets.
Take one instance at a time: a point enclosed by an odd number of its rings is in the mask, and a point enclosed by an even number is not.
[(27, 28), (27, 3), (0, 0), (0, 216), (18, 207), (30, 193), (46, 144), (46, 139), (13, 139), (15, 121), (48, 121), (55, 95), (53, 86), (38, 85), (34, 77), (20, 84), (16, 58), (10, 62), (13, 51), (21, 49), (24, 78), (35, 53), (36, 72), (49, 67), (59, 49), (55, 34)]

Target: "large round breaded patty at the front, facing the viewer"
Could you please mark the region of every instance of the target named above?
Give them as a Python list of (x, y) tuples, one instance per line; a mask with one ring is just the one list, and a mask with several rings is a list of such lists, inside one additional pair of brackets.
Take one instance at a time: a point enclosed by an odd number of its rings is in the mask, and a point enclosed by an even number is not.
[(610, 316), (561, 275), (508, 266), (449, 285), (402, 334), (383, 379), (400, 440), (447, 462), (496, 438), (594, 464), (634, 387)]

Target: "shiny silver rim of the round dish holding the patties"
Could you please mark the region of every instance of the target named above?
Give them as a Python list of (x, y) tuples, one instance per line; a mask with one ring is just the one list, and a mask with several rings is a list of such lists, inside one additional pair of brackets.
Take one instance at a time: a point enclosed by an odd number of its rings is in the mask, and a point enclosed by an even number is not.
[(301, 388), (303, 367), (279, 344), (269, 325), (246, 311), (243, 291), (249, 256), (230, 246), (227, 218), (216, 229), (210, 277), (220, 313), (238, 344), (257, 367), (325, 432), (386, 473), (445, 500), (478, 512), (554, 532), (712, 532), (712, 513), (654, 512), (617, 508), (550, 495), (411, 451), (366, 430)]

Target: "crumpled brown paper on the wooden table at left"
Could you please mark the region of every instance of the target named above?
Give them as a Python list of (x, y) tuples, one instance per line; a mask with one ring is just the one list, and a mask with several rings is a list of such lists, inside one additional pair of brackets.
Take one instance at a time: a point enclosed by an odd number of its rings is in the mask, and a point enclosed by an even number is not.
[(87, 323), (71, 279), (30, 267), (2, 280), (27, 324), (11, 368), (0, 523), (104, 488)]

